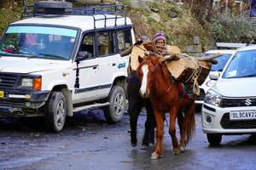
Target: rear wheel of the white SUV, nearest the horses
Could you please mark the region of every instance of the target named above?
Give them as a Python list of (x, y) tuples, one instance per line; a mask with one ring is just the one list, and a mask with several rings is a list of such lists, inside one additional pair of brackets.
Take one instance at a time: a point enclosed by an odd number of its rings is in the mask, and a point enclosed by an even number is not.
[(118, 85), (113, 86), (108, 96), (108, 106), (103, 108), (108, 123), (119, 122), (125, 112), (125, 90)]

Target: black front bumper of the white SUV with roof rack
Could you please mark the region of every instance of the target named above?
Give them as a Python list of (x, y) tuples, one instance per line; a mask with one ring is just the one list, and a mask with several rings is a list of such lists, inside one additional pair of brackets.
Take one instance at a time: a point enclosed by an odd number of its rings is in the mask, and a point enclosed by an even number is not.
[(32, 116), (49, 97), (49, 91), (3, 90), (0, 116)]

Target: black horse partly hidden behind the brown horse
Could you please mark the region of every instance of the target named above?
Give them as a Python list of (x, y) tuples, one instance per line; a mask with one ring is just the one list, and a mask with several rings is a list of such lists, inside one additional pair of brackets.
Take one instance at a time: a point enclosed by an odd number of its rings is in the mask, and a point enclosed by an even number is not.
[(127, 94), (128, 94), (128, 114), (131, 127), (131, 146), (137, 146), (137, 120), (143, 107), (147, 111), (147, 119), (145, 122), (145, 131), (143, 135), (142, 150), (147, 149), (149, 144), (154, 144), (154, 127), (155, 119), (152, 105), (149, 99), (143, 99), (139, 94), (140, 81), (136, 71), (131, 71), (127, 78)]

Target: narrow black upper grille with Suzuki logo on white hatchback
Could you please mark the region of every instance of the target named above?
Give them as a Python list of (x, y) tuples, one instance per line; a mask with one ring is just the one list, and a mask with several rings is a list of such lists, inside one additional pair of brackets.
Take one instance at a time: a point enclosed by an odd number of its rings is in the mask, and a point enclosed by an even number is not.
[[(248, 105), (250, 104), (250, 105)], [(256, 98), (222, 99), (221, 107), (256, 106)]]

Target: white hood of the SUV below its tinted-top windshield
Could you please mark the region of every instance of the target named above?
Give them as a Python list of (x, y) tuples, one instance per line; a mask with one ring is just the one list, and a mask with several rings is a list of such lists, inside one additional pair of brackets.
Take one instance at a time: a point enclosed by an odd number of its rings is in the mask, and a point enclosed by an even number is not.
[(38, 71), (51, 71), (65, 68), (68, 63), (68, 61), (62, 60), (1, 57), (0, 72), (32, 73)]

